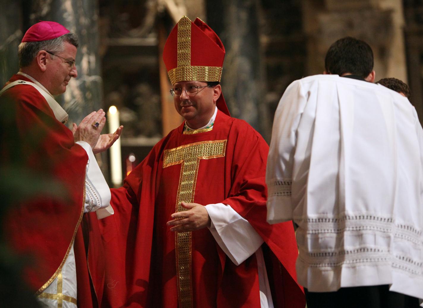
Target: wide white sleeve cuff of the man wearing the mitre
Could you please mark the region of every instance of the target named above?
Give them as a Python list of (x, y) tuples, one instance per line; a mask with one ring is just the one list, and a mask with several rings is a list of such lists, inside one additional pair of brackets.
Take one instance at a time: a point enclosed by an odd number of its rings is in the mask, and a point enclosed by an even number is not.
[(208, 204), (206, 210), (211, 219), (211, 234), (235, 265), (240, 265), (260, 248), (261, 236), (231, 206)]

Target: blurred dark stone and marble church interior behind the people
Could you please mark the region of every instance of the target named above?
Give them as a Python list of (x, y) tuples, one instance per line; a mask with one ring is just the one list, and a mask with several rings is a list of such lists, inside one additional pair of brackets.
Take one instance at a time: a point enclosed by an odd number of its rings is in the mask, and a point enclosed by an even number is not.
[[(0, 0), (5, 3), (6, 0)], [(179, 18), (200, 17), (222, 39), (222, 88), (231, 114), (270, 141), (273, 114), (288, 84), (322, 73), (338, 38), (367, 41), (376, 80), (409, 81), (423, 119), (423, 8), (412, 0), (21, 0), (0, 12), (0, 82), (18, 70), (17, 45), (38, 19), (80, 38), (78, 78), (59, 102), (79, 123), (94, 109), (122, 105), (122, 140), (154, 144), (181, 119), (173, 111), (161, 48)], [(405, 35), (404, 35), (405, 33)], [(131, 124), (132, 121), (132, 124)], [(141, 141), (140, 141), (141, 140)], [(146, 141), (147, 140), (147, 141)]]

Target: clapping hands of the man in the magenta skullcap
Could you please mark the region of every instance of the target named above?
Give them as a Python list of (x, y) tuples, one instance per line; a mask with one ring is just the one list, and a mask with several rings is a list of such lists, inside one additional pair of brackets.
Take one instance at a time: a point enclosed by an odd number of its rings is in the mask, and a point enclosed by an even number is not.
[[(121, 125), (113, 133), (100, 134), (104, 125), (106, 124), (105, 115), (106, 113), (103, 111), (103, 109), (100, 109), (99, 111), (93, 111), (81, 121), (79, 126), (74, 123), (72, 127), (72, 133), (74, 134), (75, 142), (85, 141), (91, 146), (94, 154), (109, 149), (110, 146), (112, 146), (113, 143), (118, 140), (122, 133), (122, 129), (124, 128)], [(96, 122), (99, 123), (98, 127), (93, 125)]]

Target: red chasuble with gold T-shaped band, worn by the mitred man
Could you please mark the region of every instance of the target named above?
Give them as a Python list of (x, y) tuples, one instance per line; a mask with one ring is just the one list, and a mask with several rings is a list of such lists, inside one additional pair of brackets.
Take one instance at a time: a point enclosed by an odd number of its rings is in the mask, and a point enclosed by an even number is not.
[(266, 223), (268, 146), (246, 122), (218, 111), (212, 130), (182, 124), (112, 189), (113, 216), (99, 221), (107, 307), (260, 307), (255, 254), (236, 266), (204, 228), (175, 234), (181, 201), (229, 204), (264, 239), (275, 307), (305, 306), (296, 283), (292, 223)]

